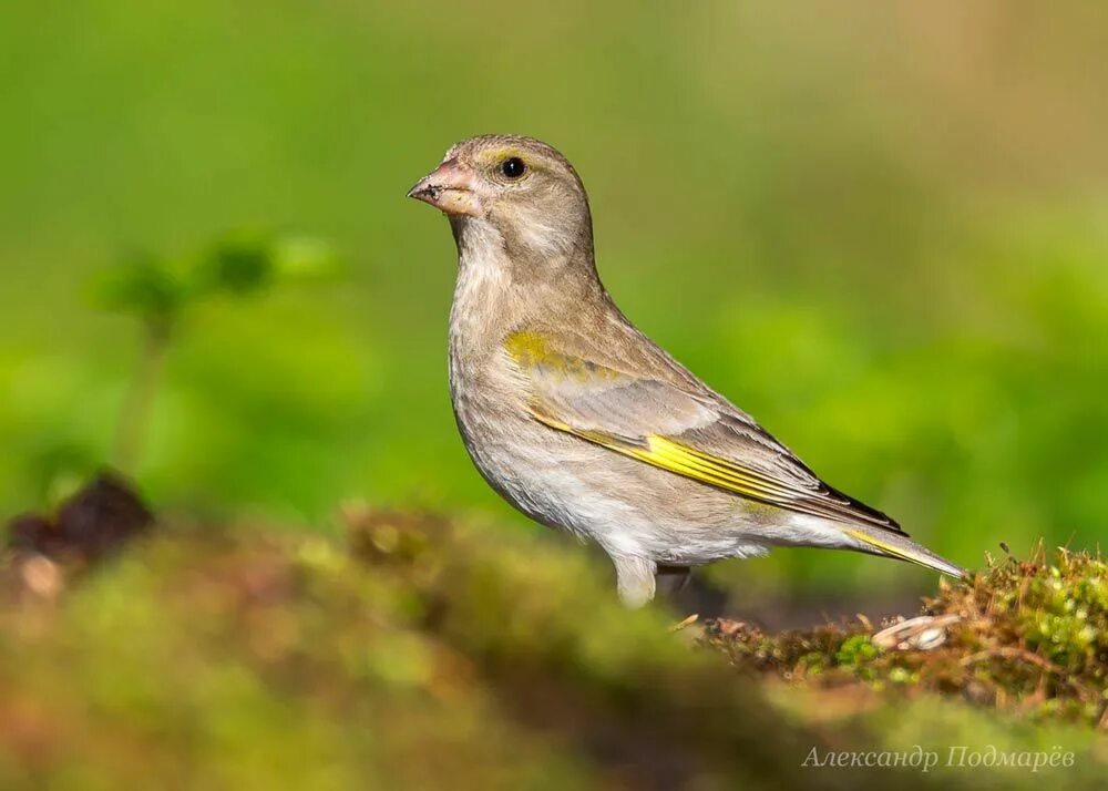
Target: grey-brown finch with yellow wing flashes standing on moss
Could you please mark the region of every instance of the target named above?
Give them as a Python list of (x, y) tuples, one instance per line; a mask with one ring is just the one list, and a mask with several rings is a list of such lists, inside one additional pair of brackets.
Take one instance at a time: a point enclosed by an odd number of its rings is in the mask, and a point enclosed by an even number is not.
[(526, 516), (598, 544), (626, 606), (779, 546), (967, 576), (820, 480), (630, 322), (597, 274), (582, 179), (554, 147), (464, 140), (408, 197), (447, 215), (458, 250), (449, 384), (473, 463)]

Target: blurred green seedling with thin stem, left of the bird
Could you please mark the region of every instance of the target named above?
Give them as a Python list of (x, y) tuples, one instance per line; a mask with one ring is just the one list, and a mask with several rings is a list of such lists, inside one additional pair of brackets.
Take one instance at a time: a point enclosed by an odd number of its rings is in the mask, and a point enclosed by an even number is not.
[(318, 239), (265, 233), (227, 234), (198, 255), (133, 255), (95, 284), (95, 302), (138, 321), (141, 350), (123, 403), (112, 462), (132, 473), (145, 441), (166, 353), (185, 314), (217, 297), (245, 299), (289, 281), (331, 276), (334, 250)]

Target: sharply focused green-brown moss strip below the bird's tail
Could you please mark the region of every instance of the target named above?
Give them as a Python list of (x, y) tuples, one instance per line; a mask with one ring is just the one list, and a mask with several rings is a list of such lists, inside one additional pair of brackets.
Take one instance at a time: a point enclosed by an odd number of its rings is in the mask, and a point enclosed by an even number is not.
[(1099, 556), (1059, 549), (1047, 563), (1040, 549), (1030, 562), (993, 564), (973, 583), (944, 583), (925, 599), (924, 614), (960, 618), (930, 650), (881, 650), (861, 622), (774, 636), (714, 622), (706, 643), (747, 671), (827, 688), (865, 682), (904, 695), (956, 695), (1034, 721), (1105, 728), (1106, 605), (1108, 568)]

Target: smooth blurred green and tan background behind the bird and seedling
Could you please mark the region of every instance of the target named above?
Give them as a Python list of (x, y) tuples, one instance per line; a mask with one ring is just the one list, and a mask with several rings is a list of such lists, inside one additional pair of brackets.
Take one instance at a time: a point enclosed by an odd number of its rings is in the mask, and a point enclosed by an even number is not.
[[(1108, 25), (1096, 3), (48, 0), (0, 12), (0, 513), (110, 455), (129, 250), (307, 232), (341, 280), (216, 300), (137, 473), (162, 507), (334, 530), (351, 499), (523, 517), (445, 382), (453, 142), (577, 166), (625, 311), (833, 484), (970, 566), (1108, 520)], [(926, 589), (783, 551), (725, 585)]]

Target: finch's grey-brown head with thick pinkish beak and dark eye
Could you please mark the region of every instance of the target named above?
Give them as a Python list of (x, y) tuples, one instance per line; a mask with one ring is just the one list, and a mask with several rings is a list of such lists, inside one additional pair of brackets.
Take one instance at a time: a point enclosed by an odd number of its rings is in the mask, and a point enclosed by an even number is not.
[(592, 256), (588, 198), (573, 165), (532, 137), (482, 135), (458, 143), (408, 193), (444, 212), (459, 245), (473, 236), (514, 257)]

